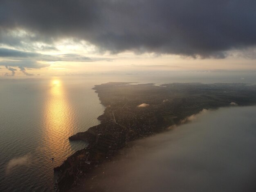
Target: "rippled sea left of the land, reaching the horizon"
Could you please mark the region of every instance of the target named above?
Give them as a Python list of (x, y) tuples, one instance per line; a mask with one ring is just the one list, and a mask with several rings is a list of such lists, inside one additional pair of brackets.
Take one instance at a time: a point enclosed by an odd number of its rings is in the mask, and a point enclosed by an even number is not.
[[(53, 190), (53, 168), (87, 145), (70, 142), (68, 137), (100, 123), (97, 117), (105, 107), (92, 87), (109, 81), (215, 83), (219, 80), (157, 75), (0, 79), (0, 192)], [(234, 82), (243, 80), (238, 76)], [(255, 83), (255, 79), (246, 83)]]

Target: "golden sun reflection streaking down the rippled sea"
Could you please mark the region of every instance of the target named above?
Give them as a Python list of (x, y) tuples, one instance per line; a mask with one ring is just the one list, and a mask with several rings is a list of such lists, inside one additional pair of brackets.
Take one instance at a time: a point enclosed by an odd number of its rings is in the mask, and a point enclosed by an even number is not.
[(70, 147), (68, 137), (74, 134), (75, 123), (74, 112), (61, 80), (51, 81), (43, 116), (45, 145), (41, 150), (48, 158), (63, 161), (67, 156), (63, 147)]

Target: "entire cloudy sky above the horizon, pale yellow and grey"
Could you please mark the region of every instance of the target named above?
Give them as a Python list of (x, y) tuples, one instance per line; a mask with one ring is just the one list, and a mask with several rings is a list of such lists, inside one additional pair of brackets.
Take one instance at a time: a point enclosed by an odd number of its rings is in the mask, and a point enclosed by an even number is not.
[(1, 0), (0, 78), (256, 71), (255, 0)]

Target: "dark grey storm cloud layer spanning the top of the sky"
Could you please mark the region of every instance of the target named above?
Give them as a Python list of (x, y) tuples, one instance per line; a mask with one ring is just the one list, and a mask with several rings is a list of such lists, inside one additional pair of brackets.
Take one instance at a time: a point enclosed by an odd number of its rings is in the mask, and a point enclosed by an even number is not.
[(256, 45), (254, 0), (2, 0), (0, 5), (0, 29), (31, 31), (31, 41), (71, 37), (112, 53), (215, 58)]

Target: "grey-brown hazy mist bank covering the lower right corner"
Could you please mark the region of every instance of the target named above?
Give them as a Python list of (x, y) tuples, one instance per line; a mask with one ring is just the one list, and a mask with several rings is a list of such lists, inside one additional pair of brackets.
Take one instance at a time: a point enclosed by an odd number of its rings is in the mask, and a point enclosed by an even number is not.
[(94, 188), (255, 192), (255, 116), (256, 106), (204, 111), (189, 124), (136, 142), (126, 157), (105, 165)]

